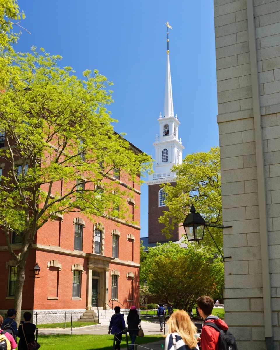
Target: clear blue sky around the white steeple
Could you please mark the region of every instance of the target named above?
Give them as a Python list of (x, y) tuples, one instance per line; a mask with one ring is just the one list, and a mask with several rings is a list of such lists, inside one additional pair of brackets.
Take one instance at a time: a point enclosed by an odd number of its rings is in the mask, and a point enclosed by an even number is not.
[[(115, 130), (142, 151), (155, 151), (163, 111), (167, 27), (174, 114), (188, 153), (219, 144), (211, 0), (18, 0), (26, 19), (17, 51), (31, 45), (63, 56), (78, 77), (98, 69), (114, 83)], [(142, 186), (141, 237), (148, 235), (148, 186)]]

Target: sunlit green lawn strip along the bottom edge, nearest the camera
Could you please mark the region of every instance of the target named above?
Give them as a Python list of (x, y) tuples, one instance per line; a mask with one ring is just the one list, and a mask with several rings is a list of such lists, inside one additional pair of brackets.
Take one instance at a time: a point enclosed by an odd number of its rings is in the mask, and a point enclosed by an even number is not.
[[(165, 339), (161, 335), (147, 335), (144, 338), (137, 337), (137, 344), (156, 342), (162, 339), (164, 346)], [(125, 335), (123, 335), (121, 348), (125, 345)], [(44, 350), (112, 350), (114, 338), (112, 335), (92, 335), (92, 334), (57, 334), (39, 335), (38, 343)], [(128, 343), (130, 338), (128, 337)], [(123, 345), (122, 345), (123, 344)]]

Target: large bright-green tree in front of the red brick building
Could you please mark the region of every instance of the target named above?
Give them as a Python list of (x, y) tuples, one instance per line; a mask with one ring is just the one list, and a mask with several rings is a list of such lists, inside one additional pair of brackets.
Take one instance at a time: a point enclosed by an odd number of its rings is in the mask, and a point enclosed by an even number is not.
[[(126, 198), (134, 190), (118, 186), (116, 177), (139, 183), (139, 175), (150, 168), (150, 157), (133, 152), (113, 130), (116, 120), (106, 110), (112, 83), (97, 70), (77, 79), (71, 67), (58, 67), (60, 59), (35, 48), (13, 54), (0, 99), (0, 130), (6, 139), (0, 150), (0, 163), (5, 163), (0, 227), (16, 261), (14, 308), (19, 311), (25, 263), (37, 231), (69, 212), (132, 222)], [(10, 244), (12, 232), (21, 239), (20, 251)]]

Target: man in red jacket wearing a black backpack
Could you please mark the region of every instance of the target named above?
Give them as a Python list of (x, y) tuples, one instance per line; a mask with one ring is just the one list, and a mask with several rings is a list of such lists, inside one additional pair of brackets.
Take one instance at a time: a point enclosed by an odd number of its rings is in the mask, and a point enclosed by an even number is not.
[(198, 313), (204, 320), (200, 337), (201, 350), (237, 350), (235, 338), (228, 331), (228, 325), (212, 315), (214, 300), (203, 295), (196, 302)]

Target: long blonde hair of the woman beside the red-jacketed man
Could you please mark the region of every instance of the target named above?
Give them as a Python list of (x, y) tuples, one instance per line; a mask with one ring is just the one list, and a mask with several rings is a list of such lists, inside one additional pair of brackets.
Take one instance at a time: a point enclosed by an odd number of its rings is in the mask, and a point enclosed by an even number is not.
[(168, 325), (168, 333), (178, 333), (183, 339), (184, 343), (189, 346), (190, 349), (194, 349), (197, 344), (195, 338), (196, 327), (191, 322), (190, 316), (184, 310), (175, 311), (166, 322)]

